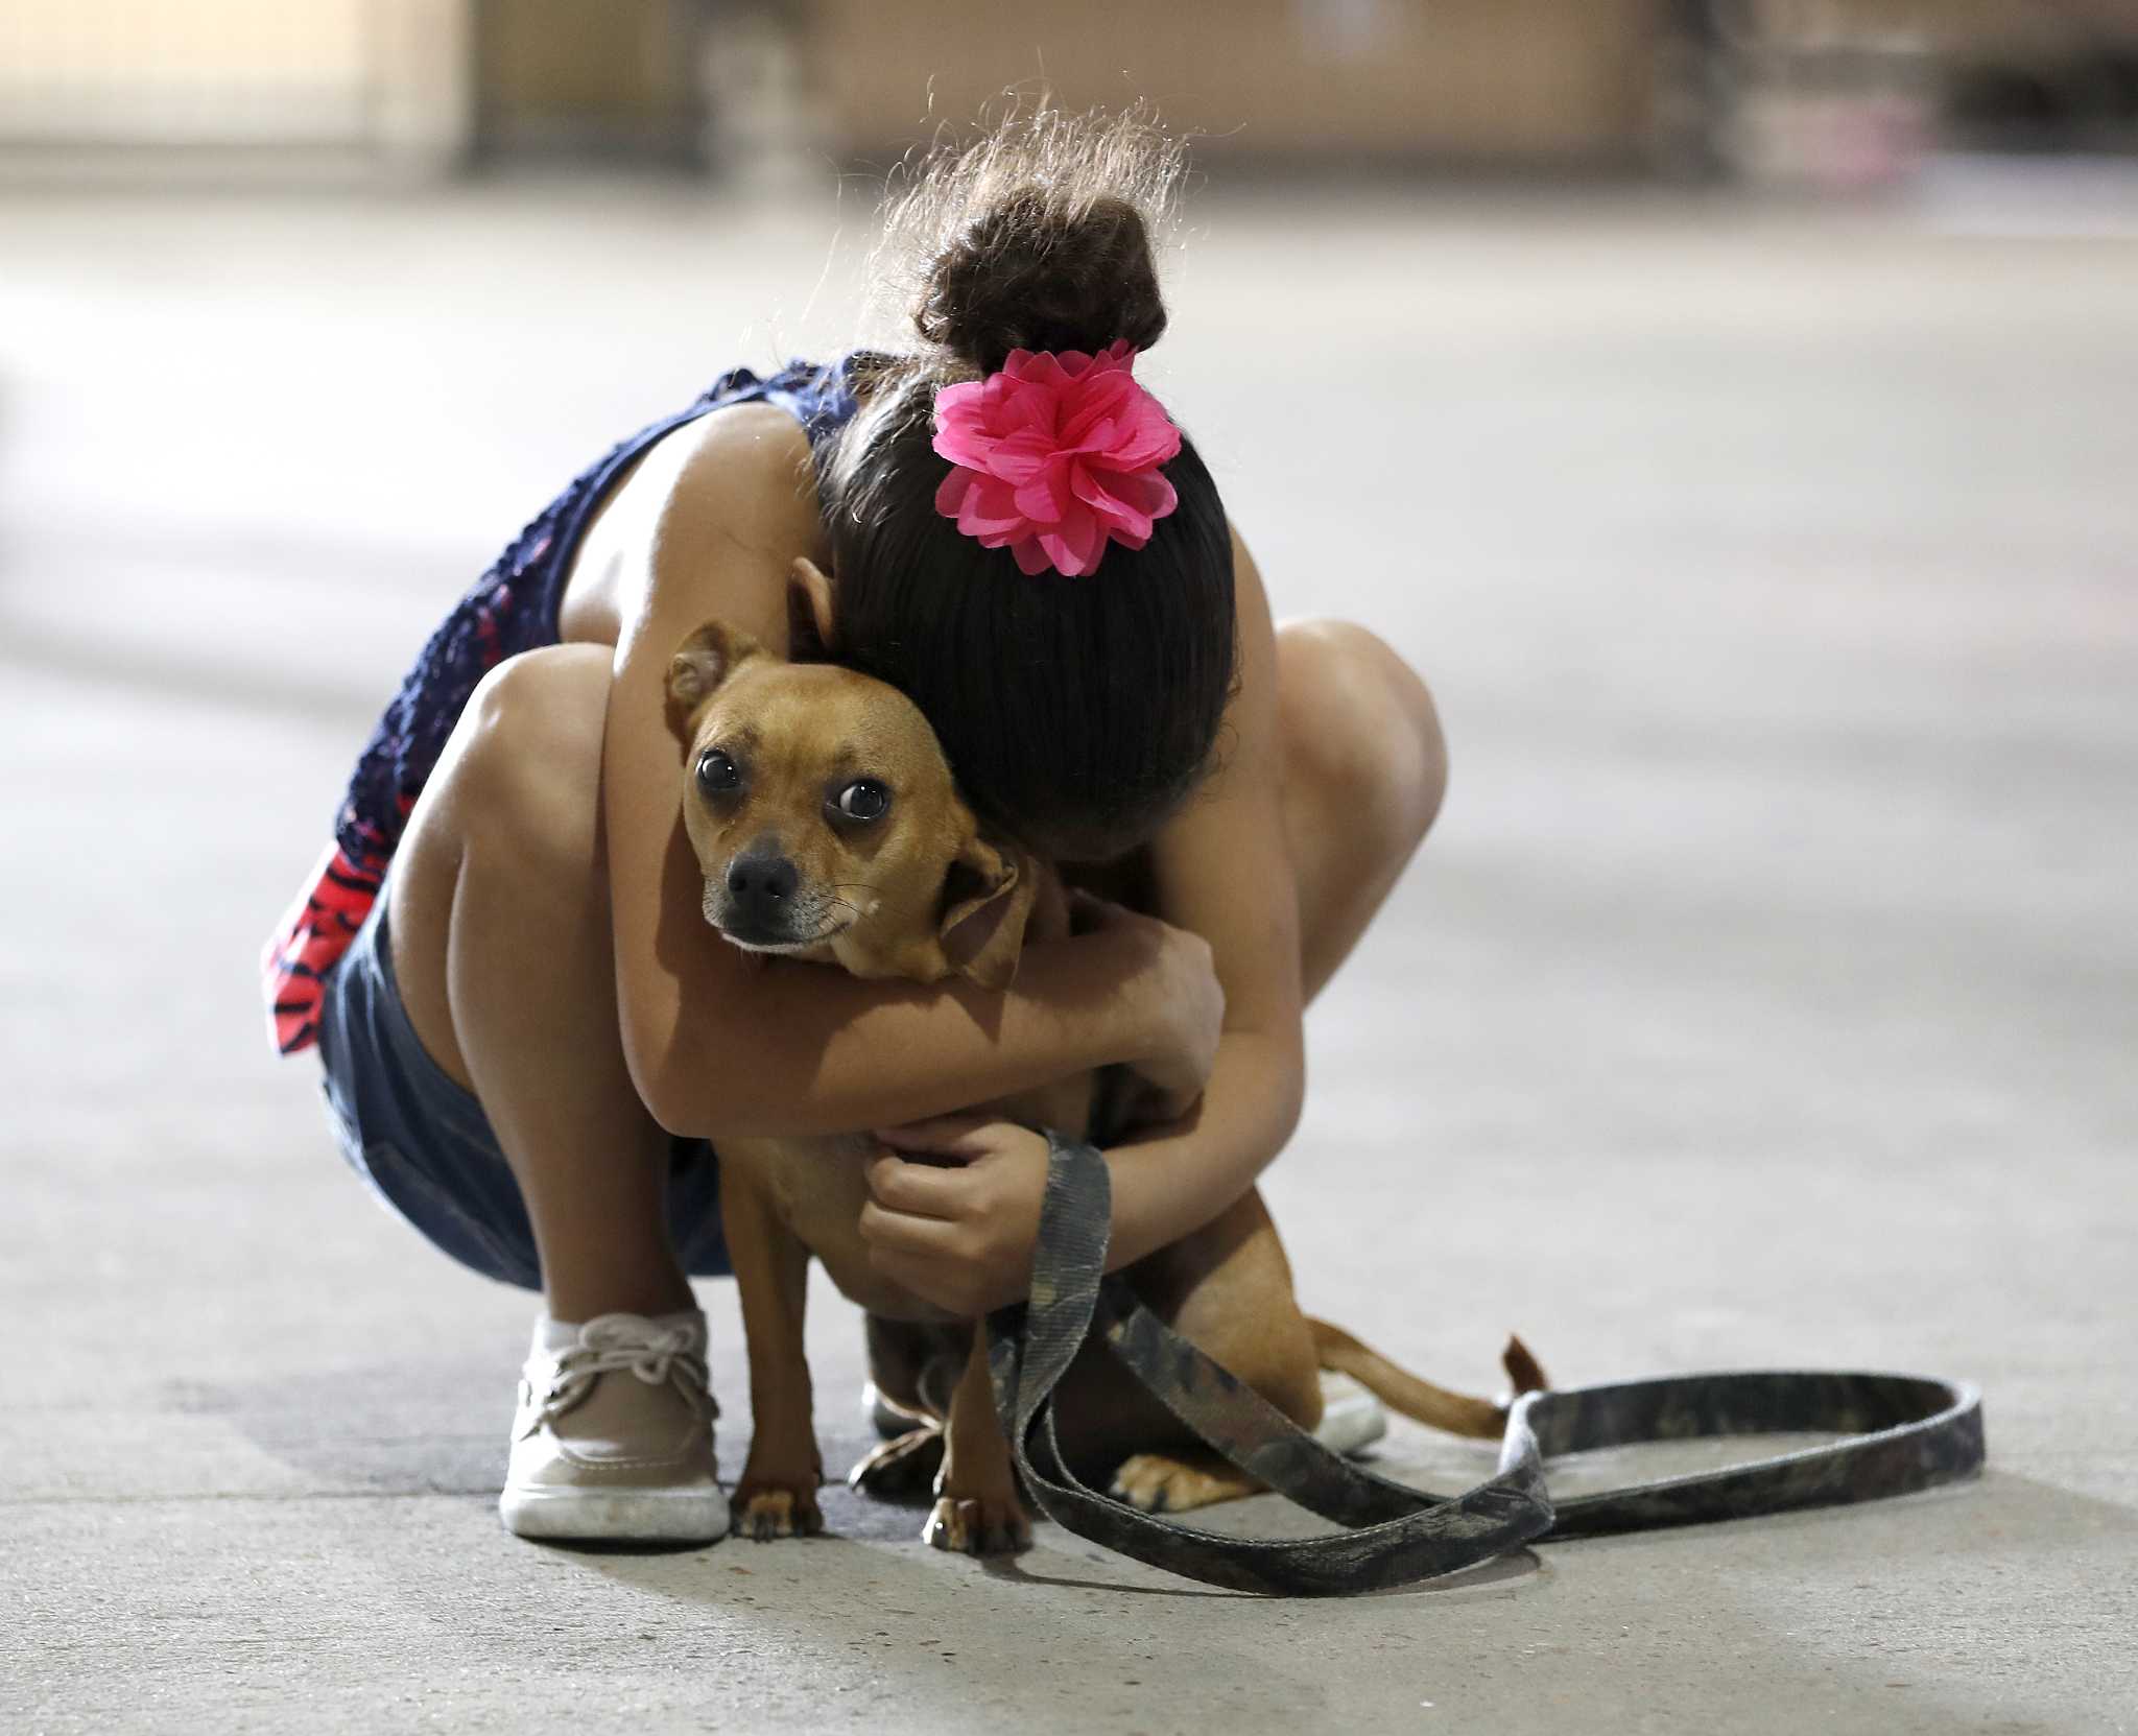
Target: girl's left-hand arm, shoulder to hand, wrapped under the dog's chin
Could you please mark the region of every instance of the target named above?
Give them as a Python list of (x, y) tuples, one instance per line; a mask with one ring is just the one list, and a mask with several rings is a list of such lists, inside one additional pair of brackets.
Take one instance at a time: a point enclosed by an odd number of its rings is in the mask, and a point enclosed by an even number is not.
[(710, 616), (785, 652), (787, 573), (821, 539), (808, 443), (783, 410), (716, 410), (656, 447), (614, 511), (637, 515), (620, 547), (644, 552), (641, 571), (616, 575), (603, 742), (616, 992), (633, 1084), (663, 1127), (838, 1133), (1112, 1063), (1208, 1071), (1217, 979), (1202, 943), (1165, 924), (1122, 915), (1035, 945), (1007, 994), (753, 960), (706, 928), (667, 665)]

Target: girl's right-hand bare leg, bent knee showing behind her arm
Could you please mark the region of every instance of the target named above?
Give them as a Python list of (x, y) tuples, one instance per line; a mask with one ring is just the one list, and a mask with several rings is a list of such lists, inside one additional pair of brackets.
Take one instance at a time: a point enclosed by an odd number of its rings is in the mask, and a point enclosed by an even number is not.
[(1285, 840), (1313, 1001), (1409, 866), (1447, 791), (1447, 742), (1417, 673), (1364, 626), (1276, 633)]

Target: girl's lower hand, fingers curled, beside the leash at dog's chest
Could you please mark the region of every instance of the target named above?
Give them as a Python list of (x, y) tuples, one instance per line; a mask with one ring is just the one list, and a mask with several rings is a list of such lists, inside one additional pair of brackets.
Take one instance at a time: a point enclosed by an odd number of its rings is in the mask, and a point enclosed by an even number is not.
[(1007, 1120), (943, 1116), (879, 1129), (877, 1137), (892, 1150), (868, 1165), (874, 1197), (862, 1206), (862, 1240), (870, 1264), (962, 1319), (1031, 1296), (1045, 1135)]

